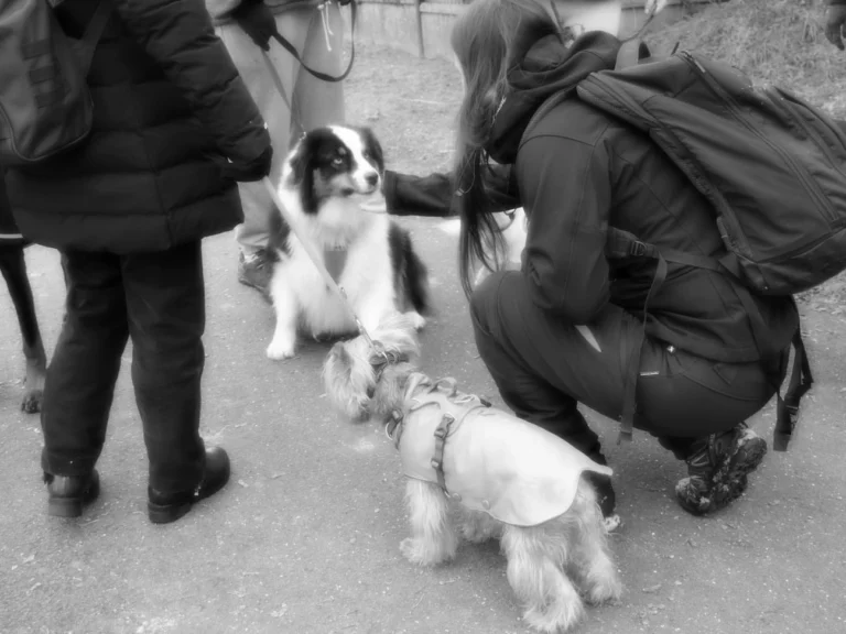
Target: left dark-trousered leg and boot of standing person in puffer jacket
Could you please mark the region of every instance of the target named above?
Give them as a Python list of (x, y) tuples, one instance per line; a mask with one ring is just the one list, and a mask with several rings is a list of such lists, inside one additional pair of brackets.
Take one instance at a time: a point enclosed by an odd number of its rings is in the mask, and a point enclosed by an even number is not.
[(76, 517), (99, 491), (95, 464), (127, 345), (120, 260), (108, 253), (62, 258), (67, 299), (42, 401), (42, 468), (51, 515)]

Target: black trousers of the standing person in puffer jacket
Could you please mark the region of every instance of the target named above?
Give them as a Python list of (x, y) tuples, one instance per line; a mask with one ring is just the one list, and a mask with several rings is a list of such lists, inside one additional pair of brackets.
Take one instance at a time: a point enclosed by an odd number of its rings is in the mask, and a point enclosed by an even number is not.
[(42, 405), (48, 473), (90, 471), (102, 450), (120, 361), (132, 338), (132, 384), (144, 428), (149, 484), (194, 489), (199, 437), (205, 287), (200, 243), (132, 255), (66, 252), (65, 323)]

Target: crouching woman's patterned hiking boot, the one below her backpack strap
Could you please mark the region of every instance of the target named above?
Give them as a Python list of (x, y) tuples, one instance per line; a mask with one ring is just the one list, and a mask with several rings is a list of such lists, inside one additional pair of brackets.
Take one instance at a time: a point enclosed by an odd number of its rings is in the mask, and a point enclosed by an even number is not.
[(767, 441), (741, 423), (693, 444), (686, 458), (687, 478), (675, 485), (682, 509), (704, 515), (724, 509), (746, 491), (747, 476), (767, 453)]

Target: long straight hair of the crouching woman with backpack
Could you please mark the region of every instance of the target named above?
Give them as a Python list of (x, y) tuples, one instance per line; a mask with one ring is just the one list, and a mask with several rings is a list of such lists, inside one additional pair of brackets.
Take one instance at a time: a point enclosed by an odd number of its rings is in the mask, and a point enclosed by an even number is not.
[(489, 168), (485, 145), (509, 95), (508, 72), (520, 62), (516, 50), (558, 34), (552, 15), (536, 0), (474, 0), (455, 22), (452, 46), (464, 75), (458, 110), (455, 185), (462, 216), (458, 267), (467, 297), (476, 265), (499, 269), (505, 243), (484, 186)]

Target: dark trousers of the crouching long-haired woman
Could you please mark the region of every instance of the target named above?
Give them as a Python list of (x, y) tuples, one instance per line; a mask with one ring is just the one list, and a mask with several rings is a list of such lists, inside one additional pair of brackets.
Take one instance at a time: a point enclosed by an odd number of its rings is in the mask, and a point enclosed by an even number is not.
[[(575, 327), (538, 308), (518, 272), (489, 276), (474, 293), (471, 314), (479, 353), (508, 406), (600, 458), (598, 436), (576, 406), (619, 419), (640, 321), (608, 305), (589, 325), (597, 351)], [(760, 363), (708, 361), (648, 339), (634, 426), (684, 459), (696, 438), (730, 429), (767, 404), (774, 394), (770, 371)]]

